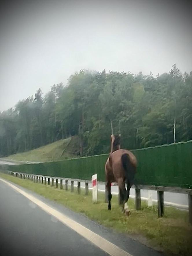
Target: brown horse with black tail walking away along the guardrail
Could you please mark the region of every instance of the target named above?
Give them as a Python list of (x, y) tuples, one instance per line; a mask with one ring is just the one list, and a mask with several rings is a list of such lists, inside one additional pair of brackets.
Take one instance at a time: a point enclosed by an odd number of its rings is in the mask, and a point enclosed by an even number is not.
[[(132, 152), (120, 148), (120, 136), (111, 135), (111, 152), (105, 164), (108, 210), (111, 210), (111, 183), (117, 182), (120, 192), (120, 204), (123, 207), (123, 212), (129, 216), (130, 211), (127, 201), (134, 181), (137, 160)], [(125, 182), (127, 183), (127, 189), (125, 189)]]

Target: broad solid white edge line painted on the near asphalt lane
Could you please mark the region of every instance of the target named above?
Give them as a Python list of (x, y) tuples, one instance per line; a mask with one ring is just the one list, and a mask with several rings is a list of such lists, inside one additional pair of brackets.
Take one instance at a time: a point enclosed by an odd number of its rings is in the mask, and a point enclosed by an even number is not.
[(105, 251), (109, 255), (111, 255), (111, 256), (117, 256), (117, 255), (118, 256), (133, 256), (133, 255), (125, 252), (124, 250), (122, 250), (121, 248), (116, 246), (115, 244), (112, 244), (108, 240), (106, 240), (103, 237), (97, 235), (96, 233), (94, 233), (90, 229), (87, 229), (86, 227), (82, 226), (78, 222), (70, 219), (69, 217), (67, 217), (63, 213), (60, 213), (56, 209), (54, 209), (54, 208), (50, 207), (49, 205), (45, 204), (44, 202), (42, 202), (41, 200), (39, 200), (35, 196), (32, 196), (32, 195), (28, 194), (24, 190), (19, 189), (18, 187), (12, 185), (11, 183), (9, 183), (8, 181), (6, 181), (4, 179), (0, 178), (0, 181), (3, 181), (4, 183), (6, 183), (10, 187), (12, 187), (14, 190), (16, 190), (17, 192), (19, 192), (20, 194), (22, 194), (23, 196), (25, 196), (26, 198), (31, 200), (33, 203), (38, 205), (45, 212), (53, 215), (60, 222), (62, 222), (64, 225), (70, 227), (75, 232), (82, 235), (84, 238), (86, 238), (87, 240), (89, 240), (90, 242), (95, 244), (97, 247), (99, 247), (101, 250)]

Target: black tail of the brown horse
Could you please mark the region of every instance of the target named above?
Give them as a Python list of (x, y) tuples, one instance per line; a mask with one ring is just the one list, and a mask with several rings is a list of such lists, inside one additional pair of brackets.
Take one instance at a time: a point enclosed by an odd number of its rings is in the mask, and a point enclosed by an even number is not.
[(134, 165), (132, 165), (132, 163), (130, 161), (130, 156), (127, 153), (122, 154), (121, 163), (125, 170), (125, 178), (126, 178), (127, 183), (129, 183), (130, 185), (133, 185), (136, 167)]

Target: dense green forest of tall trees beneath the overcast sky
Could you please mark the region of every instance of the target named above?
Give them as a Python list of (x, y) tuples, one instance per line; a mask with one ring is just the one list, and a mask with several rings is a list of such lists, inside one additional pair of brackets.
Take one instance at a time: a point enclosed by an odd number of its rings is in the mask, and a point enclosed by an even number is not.
[(138, 75), (80, 70), (0, 113), (0, 155), (79, 136), (80, 156), (109, 152), (111, 121), (123, 148), (192, 139), (192, 71)]

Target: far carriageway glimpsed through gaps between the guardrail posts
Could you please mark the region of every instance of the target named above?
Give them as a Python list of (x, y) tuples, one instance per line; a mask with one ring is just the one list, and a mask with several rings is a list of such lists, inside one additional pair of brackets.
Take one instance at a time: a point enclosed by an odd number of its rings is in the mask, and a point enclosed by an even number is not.
[[(19, 163), (27, 163), (27, 162), (19, 162)], [(0, 165), (1, 164), (18, 164), (18, 161), (7, 161), (7, 159), (0, 159)], [(59, 181), (58, 181), (59, 182)], [(64, 182), (64, 181), (63, 181)], [(70, 182), (69, 182), (70, 185)], [(77, 186), (77, 183), (74, 182), (74, 185)], [(81, 187), (83, 187), (84, 184), (81, 183)], [(89, 183), (89, 188), (92, 187), (92, 184)], [(99, 191), (105, 190), (104, 185), (98, 185)], [(152, 193), (152, 200), (153, 202), (157, 202), (157, 192), (156, 191), (150, 191)], [(117, 186), (112, 186), (112, 194), (118, 194), (118, 187)], [(130, 189), (130, 197), (134, 198), (135, 197), (135, 191), (134, 189)], [(147, 200), (148, 198), (148, 191), (147, 190), (142, 190), (141, 189), (141, 199)], [(180, 209), (188, 209), (188, 196), (187, 194), (179, 194), (179, 193), (170, 193), (170, 192), (165, 192), (164, 193), (164, 203), (165, 205), (171, 205)]]

